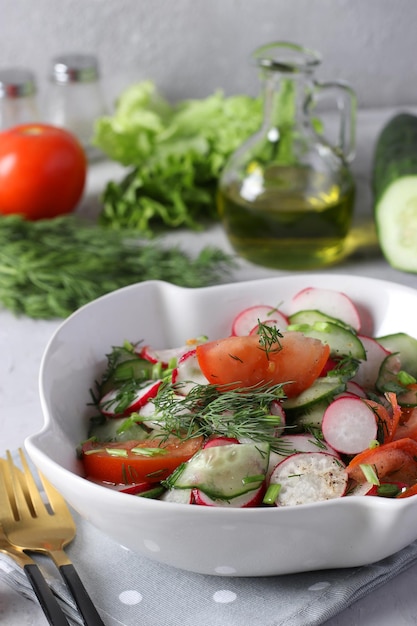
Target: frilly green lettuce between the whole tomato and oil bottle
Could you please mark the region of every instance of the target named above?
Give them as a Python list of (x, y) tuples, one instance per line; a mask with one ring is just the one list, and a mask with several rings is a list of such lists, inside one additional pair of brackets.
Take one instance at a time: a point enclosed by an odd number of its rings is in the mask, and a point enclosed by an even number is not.
[(245, 95), (168, 103), (152, 81), (123, 92), (97, 120), (94, 143), (130, 167), (103, 193), (102, 224), (152, 236), (161, 226), (201, 228), (217, 217), (215, 190), (230, 154), (261, 124), (261, 102)]

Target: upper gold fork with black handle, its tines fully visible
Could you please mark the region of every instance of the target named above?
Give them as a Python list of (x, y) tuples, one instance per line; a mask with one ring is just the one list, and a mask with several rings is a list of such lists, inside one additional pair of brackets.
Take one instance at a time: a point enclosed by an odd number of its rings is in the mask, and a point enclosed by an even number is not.
[(29, 469), (25, 455), (19, 450), (23, 473), (14, 465), (9, 451), (7, 464), (2, 465), (3, 480), (8, 493), (2, 518), (7, 539), (17, 548), (42, 552), (52, 558), (71, 591), (87, 626), (104, 626), (73, 563), (64, 551), (76, 533), (76, 527), (61, 494), (39, 472), (48, 505)]

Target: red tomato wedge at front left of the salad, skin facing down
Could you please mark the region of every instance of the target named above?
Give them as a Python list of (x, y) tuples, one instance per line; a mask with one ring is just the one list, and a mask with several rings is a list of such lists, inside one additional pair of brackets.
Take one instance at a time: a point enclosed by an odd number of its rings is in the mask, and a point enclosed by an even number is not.
[(202, 446), (203, 437), (166, 441), (123, 441), (102, 443), (87, 441), (82, 446), (81, 458), (86, 478), (132, 485), (164, 480), (181, 463), (188, 461)]

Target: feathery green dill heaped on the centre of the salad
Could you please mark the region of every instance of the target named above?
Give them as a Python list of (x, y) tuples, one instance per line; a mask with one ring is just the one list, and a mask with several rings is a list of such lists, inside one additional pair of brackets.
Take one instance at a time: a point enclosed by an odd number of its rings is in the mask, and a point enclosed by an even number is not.
[(163, 436), (186, 439), (216, 434), (269, 443), (272, 450), (282, 451), (284, 444), (277, 437), (281, 418), (270, 412), (271, 402), (283, 397), (282, 385), (239, 390), (195, 385), (184, 397), (178, 392), (178, 384), (167, 383), (152, 400), (161, 416)]

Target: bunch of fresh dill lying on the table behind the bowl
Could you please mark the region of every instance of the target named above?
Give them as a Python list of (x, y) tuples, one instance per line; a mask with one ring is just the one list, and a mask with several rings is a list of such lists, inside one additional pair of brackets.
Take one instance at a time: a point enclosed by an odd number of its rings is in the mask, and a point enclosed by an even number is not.
[(0, 303), (32, 318), (64, 318), (120, 287), (164, 280), (184, 287), (215, 283), (233, 259), (206, 247), (196, 258), (178, 247), (139, 242), (74, 215), (29, 221), (0, 218)]

